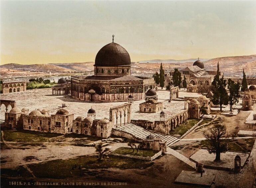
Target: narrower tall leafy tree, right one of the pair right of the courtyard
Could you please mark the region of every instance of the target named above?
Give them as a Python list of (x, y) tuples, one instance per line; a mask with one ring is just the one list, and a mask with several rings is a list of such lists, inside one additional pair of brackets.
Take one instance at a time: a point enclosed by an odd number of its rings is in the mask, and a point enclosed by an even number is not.
[(228, 83), (227, 88), (229, 89), (228, 101), (229, 101), (230, 113), (231, 113), (232, 106), (235, 105), (236, 103), (238, 103), (238, 99), (240, 97), (240, 95), (239, 95), (240, 84), (235, 83), (230, 78), (228, 79), (227, 83)]

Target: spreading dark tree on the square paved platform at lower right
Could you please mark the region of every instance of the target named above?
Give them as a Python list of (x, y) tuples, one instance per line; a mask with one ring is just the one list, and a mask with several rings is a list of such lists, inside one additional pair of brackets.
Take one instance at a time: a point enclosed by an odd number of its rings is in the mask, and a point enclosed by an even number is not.
[(219, 124), (213, 125), (212, 128), (202, 134), (206, 138), (208, 152), (216, 154), (214, 161), (221, 161), (220, 153), (227, 151), (227, 143), (233, 141), (234, 135), (229, 139), (229, 135), (226, 135), (226, 126)]

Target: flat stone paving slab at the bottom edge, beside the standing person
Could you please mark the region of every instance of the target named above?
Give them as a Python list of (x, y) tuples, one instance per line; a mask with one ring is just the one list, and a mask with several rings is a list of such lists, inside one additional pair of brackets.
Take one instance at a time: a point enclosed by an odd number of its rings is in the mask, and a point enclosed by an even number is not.
[(176, 178), (175, 183), (210, 187), (214, 178), (215, 174), (203, 173), (203, 176), (201, 177), (201, 174), (198, 172), (183, 170)]

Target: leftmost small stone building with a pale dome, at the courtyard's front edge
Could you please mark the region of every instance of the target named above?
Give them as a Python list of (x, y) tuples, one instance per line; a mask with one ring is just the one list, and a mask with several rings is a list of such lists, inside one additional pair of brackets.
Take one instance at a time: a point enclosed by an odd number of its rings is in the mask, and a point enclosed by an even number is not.
[(5, 112), (5, 122), (4, 126), (14, 129), (22, 129), (21, 115), (24, 112), (21, 111), (19, 107), (14, 107), (10, 112)]

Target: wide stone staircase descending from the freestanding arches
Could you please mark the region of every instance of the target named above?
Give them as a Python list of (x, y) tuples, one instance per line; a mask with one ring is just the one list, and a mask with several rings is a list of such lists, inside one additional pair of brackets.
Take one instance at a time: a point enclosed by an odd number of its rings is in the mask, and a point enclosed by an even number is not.
[(161, 135), (159, 133), (144, 129), (141, 126), (132, 123), (124, 124), (120, 127), (115, 127), (114, 129), (129, 133), (139, 139), (146, 139), (146, 137), (151, 134), (155, 138), (159, 138), (162, 141), (166, 141), (167, 147), (180, 140), (177, 137), (173, 137), (171, 135)]

